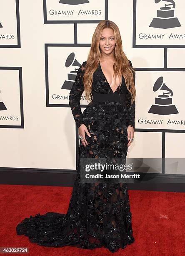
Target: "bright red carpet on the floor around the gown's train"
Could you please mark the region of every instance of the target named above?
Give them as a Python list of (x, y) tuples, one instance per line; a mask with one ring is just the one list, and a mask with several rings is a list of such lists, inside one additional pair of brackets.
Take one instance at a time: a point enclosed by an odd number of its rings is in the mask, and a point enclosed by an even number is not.
[(49, 248), (16, 235), (15, 227), (23, 218), (37, 213), (66, 213), (72, 187), (0, 185), (0, 190), (0, 247), (28, 247), (29, 254), (22, 255), (185, 255), (184, 193), (129, 190), (135, 242), (111, 253), (106, 248)]

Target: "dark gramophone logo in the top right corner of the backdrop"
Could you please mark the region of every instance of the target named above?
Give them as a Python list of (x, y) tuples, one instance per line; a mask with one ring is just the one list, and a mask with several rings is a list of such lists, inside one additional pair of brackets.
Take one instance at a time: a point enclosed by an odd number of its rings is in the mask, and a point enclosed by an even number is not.
[[(155, 3), (168, 2), (160, 10), (157, 10), (157, 18), (153, 18), (149, 27), (152, 28), (177, 28), (181, 27), (180, 22), (175, 15), (175, 2), (173, 0), (155, 0)], [(172, 5), (172, 7), (170, 7)]]

